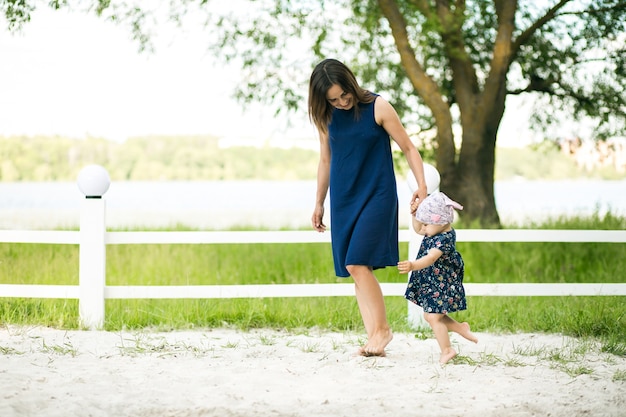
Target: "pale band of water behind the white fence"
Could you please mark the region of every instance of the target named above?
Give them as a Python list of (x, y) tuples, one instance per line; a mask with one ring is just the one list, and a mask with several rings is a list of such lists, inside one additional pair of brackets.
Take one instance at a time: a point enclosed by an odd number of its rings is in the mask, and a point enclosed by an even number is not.
[[(274, 229), (309, 227), (315, 191), (315, 181), (114, 182), (104, 198), (110, 228)], [(400, 225), (408, 227), (404, 181), (398, 198)], [(626, 180), (498, 181), (495, 198), (508, 225), (607, 210), (626, 216)], [(83, 199), (73, 182), (0, 183), (0, 229), (76, 228)]]

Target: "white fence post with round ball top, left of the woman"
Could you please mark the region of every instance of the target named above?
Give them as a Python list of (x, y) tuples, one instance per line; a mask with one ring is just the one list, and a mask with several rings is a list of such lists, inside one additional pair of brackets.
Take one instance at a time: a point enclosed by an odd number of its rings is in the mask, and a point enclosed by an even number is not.
[(104, 325), (106, 285), (106, 203), (109, 174), (99, 165), (88, 165), (78, 175), (78, 188), (85, 194), (80, 213), (79, 299), (82, 327), (94, 330)]

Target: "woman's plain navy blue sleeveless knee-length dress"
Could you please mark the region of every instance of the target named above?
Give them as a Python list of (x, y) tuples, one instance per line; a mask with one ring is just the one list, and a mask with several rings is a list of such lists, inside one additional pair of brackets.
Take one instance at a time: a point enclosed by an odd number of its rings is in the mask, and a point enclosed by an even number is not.
[(398, 263), (398, 193), (389, 134), (376, 123), (374, 102), (335, 109), (330, 142), (330, 232), (335, 274), (346, 265), (373, 269)]

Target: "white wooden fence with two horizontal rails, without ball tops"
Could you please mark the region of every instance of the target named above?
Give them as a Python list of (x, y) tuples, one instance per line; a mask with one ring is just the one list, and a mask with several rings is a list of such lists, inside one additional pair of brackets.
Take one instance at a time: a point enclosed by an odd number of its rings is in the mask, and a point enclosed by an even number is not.
[[(116, 244), (226, 244), (226, 243), (319, 243), (330, 242), (329, 233), (315, 231), (250, 232), (109, 232), (106, 230), (105, 200), (85, 198), (79, 231), (0, 230), (0, 242), (79, 245), (79, 285), (1, 284), (0, 298), (68, 298), (79, 300), (81, 325), (98, 329), (104, 324), (105, 299), (129, 298), (250, 298), (325, 297), (354, 295), (352, 284), (281, 285), (185, 285), (108, 286), (106, 246)], [(401, 242), (409, 242), (409, 259), (414, 259), (419, 237), (401, 230)], [(624, 230), (457, 230), (459, 242), (613, 242), (625, 243)], [(1, 279), (1, 278), (0, 278)], [(626, 280), (624, 280), (626, 281)], [(596, 296), (626, 295), (624, 283), (592, 284), (478, 284), (465, 283), (468, 296)], [(382, 283), (386, 296), (403, 296), (404, 283)], [(424, 326), (421, 309), (408, 304), (408, 319)]]

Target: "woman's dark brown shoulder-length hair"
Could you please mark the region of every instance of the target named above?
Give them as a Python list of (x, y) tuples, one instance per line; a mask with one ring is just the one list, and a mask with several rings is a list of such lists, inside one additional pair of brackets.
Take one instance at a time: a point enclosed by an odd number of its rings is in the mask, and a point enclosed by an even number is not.
[(359, 86), (356, 77), (346, 65), (336, 59), (325, 59), (313, 69), (309, 81), (309, 119), (320, 132), (328, 130), (334, 107), (326, 93), (337, 84), (355, 98), (355, 117), (359, 117), (359, 103), (371, 103), (375, 96)]

